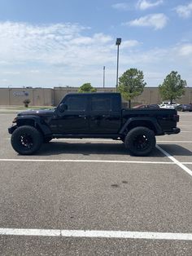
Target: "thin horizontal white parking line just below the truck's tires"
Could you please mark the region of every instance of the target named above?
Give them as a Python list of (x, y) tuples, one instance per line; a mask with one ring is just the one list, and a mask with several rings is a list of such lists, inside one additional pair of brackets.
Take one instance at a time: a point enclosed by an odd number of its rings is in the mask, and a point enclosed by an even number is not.
[(30, 161), (30, 162), (90, 162), (90, 163), (120, 163), (120, 164), (159, 164), (159, 165), (173, 165), (172, 161), (118, 161), (118, 160), (74, 160), (74, 159), (22, 159), (22, 158), (4, 158), (0, 161)]

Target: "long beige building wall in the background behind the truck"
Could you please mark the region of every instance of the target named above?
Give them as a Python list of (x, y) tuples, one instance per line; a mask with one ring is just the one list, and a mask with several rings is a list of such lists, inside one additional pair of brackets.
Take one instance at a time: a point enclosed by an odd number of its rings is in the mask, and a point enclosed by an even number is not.
[[(0, 105), (24, 105), (24, 99), (30, 99), (32, 106), (58, 105), (68, 93), (77, 92), (78, 87), (50, 88), (0, 88)], [(97, 91), (116, 91), (115, 87), (97, 88)], [(159, 104), (162, 100), (157, 87), (146, 87), (132, 100), (132, 104)], [(185, 95), (177, 99), (177, 103), (192, 103), (192, 87), (185, 88)]]

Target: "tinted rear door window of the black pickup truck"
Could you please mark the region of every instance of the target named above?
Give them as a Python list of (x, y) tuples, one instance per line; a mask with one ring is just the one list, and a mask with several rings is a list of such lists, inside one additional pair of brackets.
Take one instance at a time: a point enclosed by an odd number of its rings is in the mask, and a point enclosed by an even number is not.
[(92, 111), (109, 111), (110, 99), (106, 97), (93, 96), (91, 98), (91, 110)]

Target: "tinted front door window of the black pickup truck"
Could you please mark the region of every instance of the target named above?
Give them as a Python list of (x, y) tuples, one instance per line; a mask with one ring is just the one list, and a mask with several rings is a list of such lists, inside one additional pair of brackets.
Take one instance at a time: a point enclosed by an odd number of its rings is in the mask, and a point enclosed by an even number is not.
[(85, 111), (87, 98), (82, 96), (68, 96), (66, 101), (64, 102), (68, 106), (67, 111)]

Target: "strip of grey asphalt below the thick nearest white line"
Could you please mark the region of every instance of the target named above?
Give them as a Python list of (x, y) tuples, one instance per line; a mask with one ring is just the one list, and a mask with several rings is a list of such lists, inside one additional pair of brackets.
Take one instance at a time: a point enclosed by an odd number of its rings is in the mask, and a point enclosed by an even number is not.
[[(1, 242), (1, 237), (0, 237)], [(3, 236), (3, 255), (191, 255), (189, 241)]]

